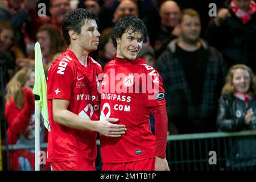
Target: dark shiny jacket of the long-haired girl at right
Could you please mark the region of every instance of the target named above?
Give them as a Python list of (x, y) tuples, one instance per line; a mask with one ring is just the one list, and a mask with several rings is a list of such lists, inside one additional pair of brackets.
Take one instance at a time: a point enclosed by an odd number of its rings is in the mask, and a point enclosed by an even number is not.
[[(234, 96), (221, 96), (217, 116), (217, 128), (220, 131), (241, 131), (256, 129), (256, 118), (250, 125), (245, 123), (245, 115), (252, 108), (256, 114), (256, 98), (248, 103)], [(233, 137), (229, 139), (227, 169), (245, 170), (246, 167), (256, 166), (256, 139), (255, 136)]]

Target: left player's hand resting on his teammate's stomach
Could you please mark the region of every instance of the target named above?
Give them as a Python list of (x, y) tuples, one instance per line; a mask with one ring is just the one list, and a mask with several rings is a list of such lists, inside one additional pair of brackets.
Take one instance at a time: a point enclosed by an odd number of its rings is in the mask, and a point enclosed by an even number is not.
[(106, 137), (121, 137), (127, 129), (125, 125), (110, 123), (117, 121), (115, 118), (102, 119), (96, 123), (96, 131)]

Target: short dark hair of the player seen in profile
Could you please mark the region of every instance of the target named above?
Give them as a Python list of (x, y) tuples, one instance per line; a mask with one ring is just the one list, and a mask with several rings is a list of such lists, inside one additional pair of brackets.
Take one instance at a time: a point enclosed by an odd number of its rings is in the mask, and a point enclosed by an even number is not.
[(67, 45), (71, 44), (68, 31), (73, 30), (77, 32), (77, 34), (80, 34), (81, 27), (84, 26), (86, 20), (95, 20), (98, 24), (98, 17), (93, 13), (92, 10), (85, 10), (80, 8), (68, 11), (68, 13), (64, 15), (62, 21), (62, 34)]

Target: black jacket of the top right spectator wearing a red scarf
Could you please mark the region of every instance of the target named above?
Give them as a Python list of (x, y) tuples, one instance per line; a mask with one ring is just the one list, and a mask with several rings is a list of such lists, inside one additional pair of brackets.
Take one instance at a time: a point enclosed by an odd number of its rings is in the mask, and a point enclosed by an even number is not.
[(230, 17), (220, 26), (212, 20), (207, 28), (205, 38), (210, 46), (222, 52), (228, 67), (234, 64), (246, 64), (256, 71), (256, 13), (243, 24), (231, 9)]

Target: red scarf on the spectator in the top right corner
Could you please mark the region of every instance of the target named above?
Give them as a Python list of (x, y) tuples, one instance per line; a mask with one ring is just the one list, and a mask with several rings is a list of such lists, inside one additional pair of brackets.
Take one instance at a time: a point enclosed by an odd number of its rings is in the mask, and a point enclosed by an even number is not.
[(242, 20), (243, 24), (249, 22), (251, 15), (256, 12), (256, 3), (254, 1), (250, 1), (250, 7), (247, 11), (238, 9), (234, 0), (231, 1), (230, 5), (234, 14), (236, 14), (236, 16)]

